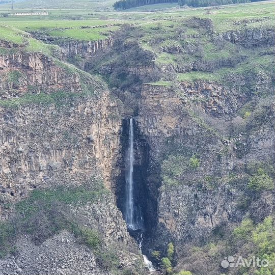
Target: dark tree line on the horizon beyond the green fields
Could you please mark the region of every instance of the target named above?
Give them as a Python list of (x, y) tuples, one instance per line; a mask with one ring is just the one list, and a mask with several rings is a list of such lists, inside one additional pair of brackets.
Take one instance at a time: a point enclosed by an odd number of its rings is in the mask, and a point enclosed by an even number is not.
[(163, 4), (163, 3), (178, 3), (179, 6), (187, 5), (189, 7), (207, 7), (221, 6), (228, 4), (258, 2), (263, 0), (119, 0), (113, 6), (116, 11), (127, 10), (135, 7)]

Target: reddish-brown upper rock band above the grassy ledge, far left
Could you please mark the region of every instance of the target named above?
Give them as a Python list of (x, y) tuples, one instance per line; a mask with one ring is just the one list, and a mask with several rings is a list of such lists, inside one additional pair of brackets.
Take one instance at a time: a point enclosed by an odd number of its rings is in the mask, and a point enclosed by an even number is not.
[(30, 91), (81, 91), (79, 75), (68, 74), (66, 70), (56, 66), (52, 57), (39, 52), (19, 51), (1, 55), (0, 69), (2, 98), (18, 97)]

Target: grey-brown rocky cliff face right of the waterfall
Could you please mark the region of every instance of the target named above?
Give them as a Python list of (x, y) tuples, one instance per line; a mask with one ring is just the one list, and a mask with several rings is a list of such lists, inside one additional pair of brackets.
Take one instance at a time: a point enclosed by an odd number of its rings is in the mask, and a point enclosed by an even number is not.
[[(196, 101), (194, 107), (194, 96), (205, 100)], [(244, 103), (238, 93), (211, 82), (182, 83), (179, 88), (143, 86), (137, 122), (150, 147), (147, 185), (153, 191), (149, 200), (157, 204), (156, 213), (151, 214), (152, 219), (157, 215), (151, 249), (165, 250), (169, 239), (177, 245), (205, 241), (214, 229), (237, 223), (255, 207), (240, 207), (246, 192), (243, 171), (248, 163), (270, 160), (267, 151), (273, 152), (275, 142), (272, 126), (230, 140), (219, 131), (228, 127), (226, 120), (236, 116)], [(207, 120), (207, 114), (219, 118)], [(239, 144), (245, 146), (241, 157)], [(198, 167), (190, 164), (194, 155), (200, 161)], [(274, 198), (262, 195), (258, 202), (264, 196), (268, 214)]]

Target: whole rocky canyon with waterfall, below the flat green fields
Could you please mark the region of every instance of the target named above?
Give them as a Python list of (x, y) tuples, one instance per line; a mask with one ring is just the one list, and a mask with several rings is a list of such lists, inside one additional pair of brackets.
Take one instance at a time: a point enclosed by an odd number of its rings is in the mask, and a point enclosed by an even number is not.
[(272, 260), (255, 236), (273, 234), (274, 30), (175, 18), (97, 41), (0, 37), (0, 274), (237, 275), (224, 257)]

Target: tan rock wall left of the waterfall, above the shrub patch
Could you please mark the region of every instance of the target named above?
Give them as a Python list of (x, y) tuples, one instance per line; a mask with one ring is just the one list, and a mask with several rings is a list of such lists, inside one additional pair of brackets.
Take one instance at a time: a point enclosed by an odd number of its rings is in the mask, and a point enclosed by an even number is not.
[[(51, 58), (39, 53), (19, 54), (11, 59), (2, 57), (2, 74), (19, 73), (17, 87), (7, 86), (2, 96), (12, 104), (13, 99), (29, 92), (35, 86), (33, 100), (60, 90), (66, 97), (82, 93), (80, 76), (68, 73), (56, 66)], [(16, 70), (15, 70), (16, 69)], [(20, 70), (23, 71), (22, 75)], [(13, 93), (14, 89), (16, 92)], [(111, 186), (114, 159), (119, 150), (120, 120), (116, 103), (109, 99), (107, 91), (94, 82), (94, 95), (85, 100), (67, 98), (60, 106), (46, 102), (1, 107), (1, 182), (3, 200), (19, 199), (26, 190), (59, 181), (79, 184), (92, 174), (100, 173), (107, 186)], [(64, 91), (64, 92), (63, 92)], [(17, 97), (18, 100), (18, 97)], [(20, 100), (20, 98), (19, 98)], [(24, 97), (21, 97), (24, 100)], [(18, 101), (19, 102), (19, 101)], [(22, 134), (24, 133), (24, 134)], [(98, 168), (99, 170), (95, 169)], [(89, 172), (88, 172), (89, 171)], [(88, 172), (88, 173), (87, 173)], [(12, 194), (12, 195), (11, 195)]]

